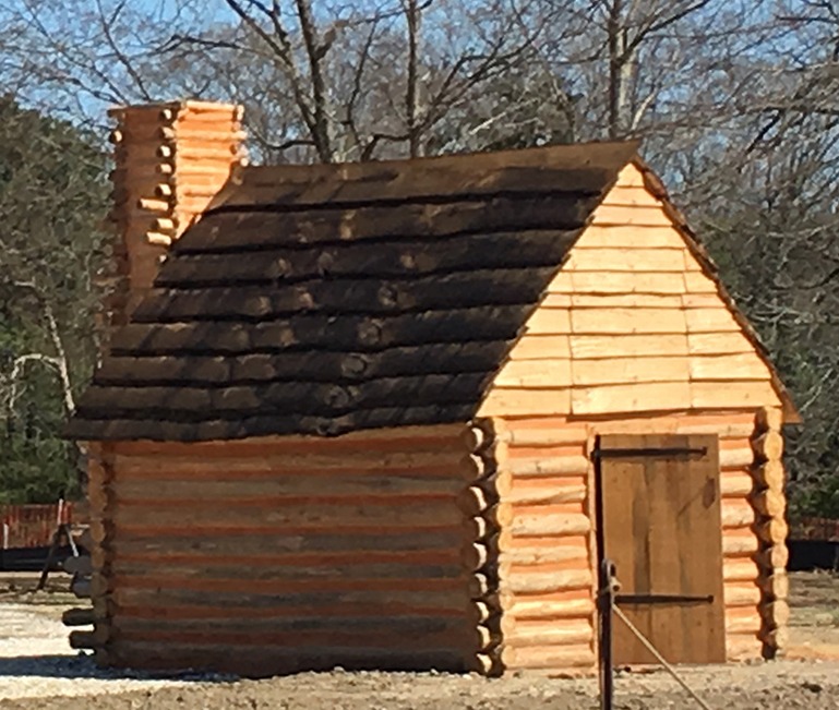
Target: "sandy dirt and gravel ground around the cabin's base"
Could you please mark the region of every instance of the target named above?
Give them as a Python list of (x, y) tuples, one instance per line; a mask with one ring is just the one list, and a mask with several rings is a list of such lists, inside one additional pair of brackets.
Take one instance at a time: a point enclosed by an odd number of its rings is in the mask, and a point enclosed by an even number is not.
[[(56, 577), (51, 591), (25, 590), (32, 576), (0, 575), (0, 710), (588, 710), (599, 707), (595, 679), (534, 676), (305, 673), (267, 681), (209, 676), (152, 677), (101, 671), (67, 645), (60, 614), (75, 600)], [(11, 587), (11, 589), (10, 589)], [(682, 669), (708, 707), (839, 709), (839, 577), (792, 578), (788, 659), (751, 665)], [(697, 706), (663, 672), (619, 674), (623, 710)]]

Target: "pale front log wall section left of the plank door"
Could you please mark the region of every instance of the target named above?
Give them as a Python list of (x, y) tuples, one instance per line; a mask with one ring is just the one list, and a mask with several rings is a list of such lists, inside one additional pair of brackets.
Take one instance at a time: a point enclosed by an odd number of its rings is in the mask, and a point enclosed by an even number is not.
[(595, 667), (596, 546), (585, 424), (499, 424), (499, 601), (506, 670)]

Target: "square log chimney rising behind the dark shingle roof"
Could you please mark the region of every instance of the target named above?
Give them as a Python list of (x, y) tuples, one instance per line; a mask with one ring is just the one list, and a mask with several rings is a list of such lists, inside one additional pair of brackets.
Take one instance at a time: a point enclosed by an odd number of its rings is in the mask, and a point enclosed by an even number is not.
[(151, 288), (172, 241), (201, 215), (244, 160), (242, 109), (180, 101), (117, 108), (112, 260), (104, 332), (121, 325)]

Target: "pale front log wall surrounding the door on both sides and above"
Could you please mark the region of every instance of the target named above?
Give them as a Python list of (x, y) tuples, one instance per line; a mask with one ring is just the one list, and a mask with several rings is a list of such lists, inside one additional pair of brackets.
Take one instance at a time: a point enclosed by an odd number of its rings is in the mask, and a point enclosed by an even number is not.
[(598, 434), (719, 436), (727, 655), (760, 658), (762, 611), (768, 610), (762, 587), (768, 577), (758, 567), (766, 553), (753, 507), (759, 497), (753, 479), (754, 413), (507, 418), (496, 428), (504, 443), (496, 449), (496, 485), (505, 669), (595, 670), (597, 550), (589, 455)]

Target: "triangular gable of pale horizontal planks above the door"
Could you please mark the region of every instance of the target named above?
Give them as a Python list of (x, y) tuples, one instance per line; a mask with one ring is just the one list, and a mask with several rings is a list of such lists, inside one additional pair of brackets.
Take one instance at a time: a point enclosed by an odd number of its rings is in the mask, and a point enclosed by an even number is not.
[(487, 417), (757, 410), (771, 373), (635, 166), (530, 316)]

